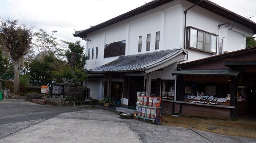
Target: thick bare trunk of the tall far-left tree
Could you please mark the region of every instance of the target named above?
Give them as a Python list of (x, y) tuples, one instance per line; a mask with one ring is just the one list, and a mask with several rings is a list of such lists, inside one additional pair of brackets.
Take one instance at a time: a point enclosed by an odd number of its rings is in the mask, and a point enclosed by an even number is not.
[(13, 92), (18, 93), (19, 92), (19, 72), (20, 72), (20, 64), (22, 62), (22, 58), (19, 58), (17, 61), (12, 59), (12, 65), (14, 70), (14, 87)]

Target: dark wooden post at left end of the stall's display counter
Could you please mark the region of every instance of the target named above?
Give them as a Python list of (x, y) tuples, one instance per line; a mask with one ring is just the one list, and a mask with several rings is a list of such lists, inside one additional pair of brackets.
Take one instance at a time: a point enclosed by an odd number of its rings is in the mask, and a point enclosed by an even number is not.
[(185, 93), (184, 75), (177, 75), (176, 77), (176, 101), (184, 100)]

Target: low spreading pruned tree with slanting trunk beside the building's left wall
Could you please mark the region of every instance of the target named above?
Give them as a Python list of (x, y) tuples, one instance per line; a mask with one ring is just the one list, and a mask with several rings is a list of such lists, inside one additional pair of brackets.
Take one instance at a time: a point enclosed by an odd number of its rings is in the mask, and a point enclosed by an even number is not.
[(58, 83), (69, 82), (72, 84), (80, 98), (84, 100), (82, 93), (78, 90), (80, 82), (87, 78), (87, 74), (84, 73), (83, 69), (79, 69), (77, 67), (71, 68), (70, 65), (64, 64), (59, 69), (55, 69), (53, 71), (53, 77)]

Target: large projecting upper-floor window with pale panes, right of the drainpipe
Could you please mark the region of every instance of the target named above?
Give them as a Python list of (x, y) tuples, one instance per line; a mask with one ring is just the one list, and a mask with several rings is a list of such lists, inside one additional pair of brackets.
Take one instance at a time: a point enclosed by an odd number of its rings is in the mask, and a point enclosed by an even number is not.
[(216, 54), (217, 35), (187, 27), (186, 37), (186, 47)]

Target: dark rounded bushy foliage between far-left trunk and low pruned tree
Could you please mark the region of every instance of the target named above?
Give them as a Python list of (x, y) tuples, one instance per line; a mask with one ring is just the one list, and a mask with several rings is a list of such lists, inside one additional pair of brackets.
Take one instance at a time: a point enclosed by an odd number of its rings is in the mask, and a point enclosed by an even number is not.
[[(33, 60), (29, 65), (29, 82), (33, 85), (50, 85), (54, 80), (52, 72), (60, 68), (61, 61), (53, 53), (45, 54)], [(57, 67), (56, 67), (57, 66)]]

